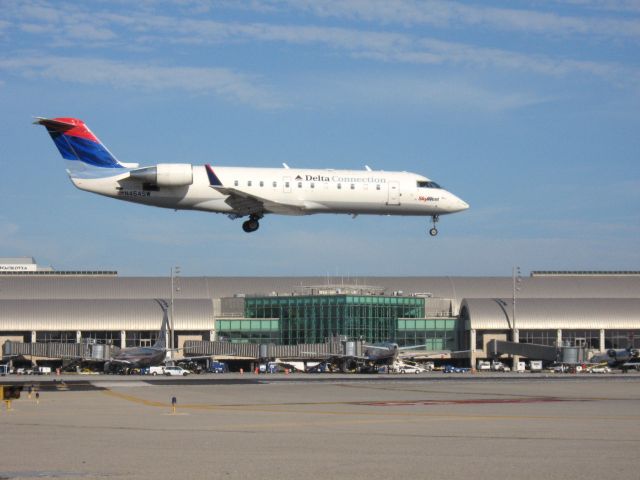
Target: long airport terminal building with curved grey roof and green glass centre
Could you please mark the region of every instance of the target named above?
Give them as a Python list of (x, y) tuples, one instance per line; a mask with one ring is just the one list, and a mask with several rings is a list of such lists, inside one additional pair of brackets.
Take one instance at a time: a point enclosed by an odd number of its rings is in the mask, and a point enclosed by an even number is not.
[(473, 365), (490, 355), (491, 340), (640, 348), (640, 272), (532, 272), (517, 285), (511, 277), (172, 280), (55, 271), (31, 258), (0, 258), (0, 345), (148, 346), (167, 313), (177, 347), (188, 340), (393, 340), (463, 352)]

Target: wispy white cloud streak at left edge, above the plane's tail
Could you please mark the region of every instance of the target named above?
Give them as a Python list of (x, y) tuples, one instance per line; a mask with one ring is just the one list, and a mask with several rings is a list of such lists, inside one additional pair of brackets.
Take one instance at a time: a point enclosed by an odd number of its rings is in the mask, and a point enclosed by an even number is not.
[(141, 91), (178, 89), (214, 94), (256, 108), (279, 108), (282, 103), (256, 79), (225, 68), (171, 67), (71, 57), (0, 59), (0, 69), (28, 78), (47, 78), (82, 84), (112, 85)]

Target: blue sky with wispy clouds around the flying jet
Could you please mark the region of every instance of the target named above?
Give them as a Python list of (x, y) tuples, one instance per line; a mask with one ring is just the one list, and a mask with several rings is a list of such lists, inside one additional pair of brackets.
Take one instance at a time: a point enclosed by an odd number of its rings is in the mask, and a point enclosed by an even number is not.
[[(163, 275), (640, 270), (640, 2), (0, 0), (0, 256)], [(122, 161), (422, 173), (471, 208), (239, 220), (74, 189)]]

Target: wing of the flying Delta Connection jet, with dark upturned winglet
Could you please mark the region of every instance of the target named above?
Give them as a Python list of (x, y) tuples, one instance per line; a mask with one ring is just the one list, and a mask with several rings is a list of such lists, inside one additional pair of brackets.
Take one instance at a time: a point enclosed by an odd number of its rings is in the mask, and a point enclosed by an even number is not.
[(237, 188), (225, 187), (213, 171), (213, 168), (211, 168), (211, 165), (205, 165), (205, 168), (209, 177), (209, 186), (223, 195), (227, 195), (225, 203), (240, 216), (262, 215), (263, 213), (279, 213), (281, 215), (304, 215), (306, 213), (304, 205), (276, 202)]

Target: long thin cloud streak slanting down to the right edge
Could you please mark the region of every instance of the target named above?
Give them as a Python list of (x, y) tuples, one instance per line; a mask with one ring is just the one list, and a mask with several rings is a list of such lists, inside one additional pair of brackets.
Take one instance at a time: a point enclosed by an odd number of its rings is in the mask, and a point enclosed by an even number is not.
[[(169, 25), (171, 26), (169, 27)], [(212, 21), (174, 21), (163, 17), (142, 20), (139, 27), (165, 26), (178, 35), (167, 41), (208, 44), (223, 41), (252, 40), (289, 44), (320, 44), (348, 52), (356, 58), (386, 62), (437, 65), (448, 64), (483, 68), (500, 68), (533, 72), (546, 76), (589, 74), (619, 85), (637, 85), (640, 73), (613, 62), (593, 62), (554, 58), (546, 55), (521, 54), (503, 49), (477, 47), (434, 38), (414, 37), (401, 33), (379, 33), (337, 27), (271, 25), (264, 23), (234, 24)], [(163, 41), (155, 36), (150, 41)]]

